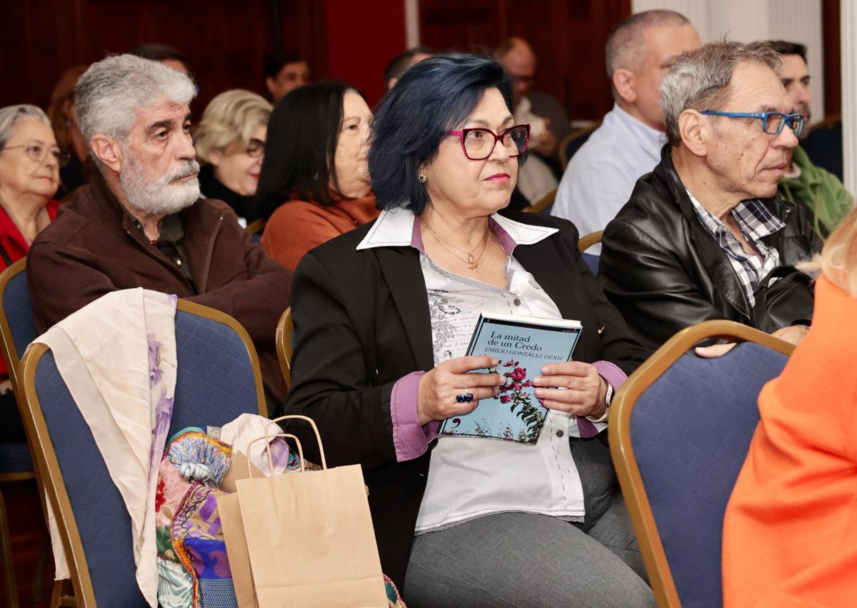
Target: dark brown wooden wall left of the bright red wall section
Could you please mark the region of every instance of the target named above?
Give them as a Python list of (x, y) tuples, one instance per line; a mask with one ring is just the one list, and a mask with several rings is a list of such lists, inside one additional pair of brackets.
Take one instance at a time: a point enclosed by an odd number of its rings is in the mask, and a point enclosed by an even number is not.
[[(277, 1), (277, 0), (275, 0)], [(197, 113), (228, 88), (263, 92), (273, 48), (270, 0), (32, 0), (4, 3), (0, 22), (0, 105), (45, 107), (63, 71), (105, 53), (163, 42), (184, 51), (200, 86)], [(327, 75), (324, 3), (279, 0), (284, 48)]]

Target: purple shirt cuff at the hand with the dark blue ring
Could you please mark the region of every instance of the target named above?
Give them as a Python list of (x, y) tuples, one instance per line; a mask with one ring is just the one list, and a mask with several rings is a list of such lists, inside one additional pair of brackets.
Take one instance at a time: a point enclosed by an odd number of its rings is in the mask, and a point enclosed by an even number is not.
[(396, 448), (396, 461), (412, 461), (425, 454), (428, 442), (437, 436), (440, 422), (432, 420), (420, 424), (417, 414), (417, 397), (420, 378), (424, 371), (412, 371), (399, 378), (393, 384), (390, 395), (390, 418), (393, 420), (393, 446)]

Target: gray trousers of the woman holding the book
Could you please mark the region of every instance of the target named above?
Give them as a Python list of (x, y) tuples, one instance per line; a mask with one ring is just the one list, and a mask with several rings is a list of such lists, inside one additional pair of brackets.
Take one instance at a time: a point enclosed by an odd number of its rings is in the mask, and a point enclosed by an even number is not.
[(582, 524), (547, 515), (486, 515), (414, 538), (410, 608), (654, 606), (609, 449), (570, 442), (584, 488)]

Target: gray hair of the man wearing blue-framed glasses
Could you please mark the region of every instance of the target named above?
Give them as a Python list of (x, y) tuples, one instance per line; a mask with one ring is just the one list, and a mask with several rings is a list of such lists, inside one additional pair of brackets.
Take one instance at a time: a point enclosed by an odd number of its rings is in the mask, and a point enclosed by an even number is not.
[(681, 112), (716, 110), (725, 104), (732, 93), (735, 66), (748, 62), (767, 65), (779, 75), (780, 55), (764, 42), (712, 42), (675, 60), (660, 88), (663, 122), (671, 145), (677, 146), (681, 141)]

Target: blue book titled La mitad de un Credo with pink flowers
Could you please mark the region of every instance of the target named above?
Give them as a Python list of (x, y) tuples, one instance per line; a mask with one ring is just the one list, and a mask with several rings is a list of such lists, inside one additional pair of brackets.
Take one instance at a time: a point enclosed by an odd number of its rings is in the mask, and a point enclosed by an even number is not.
[(440, 436), (534, 444), (548, 411), (533, 394), (532, 379), (541, 376), (542, 365), (571, 361), (581, 330), (578, 321), (483, 312), (467, 354), (500, 359), (489, 371), (504, 376), (506, 383), (500, 394), (479, 401), (469, 414), (446, 418), (440, 424)]

